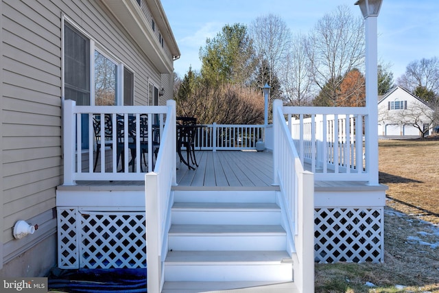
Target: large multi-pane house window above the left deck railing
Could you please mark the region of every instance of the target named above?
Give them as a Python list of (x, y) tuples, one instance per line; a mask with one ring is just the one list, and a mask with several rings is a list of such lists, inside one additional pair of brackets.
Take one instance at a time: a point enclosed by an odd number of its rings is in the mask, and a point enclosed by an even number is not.
[(64, 98), (75, 100), (78, 106), (132, 105), (134, 73), (110, 56), (105, 48), (64, 21)]

